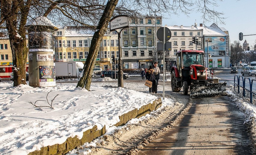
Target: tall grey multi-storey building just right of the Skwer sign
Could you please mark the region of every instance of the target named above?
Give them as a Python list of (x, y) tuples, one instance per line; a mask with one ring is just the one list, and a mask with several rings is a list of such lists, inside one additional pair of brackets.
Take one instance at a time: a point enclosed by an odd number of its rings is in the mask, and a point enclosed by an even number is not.
[[(162, 27), (162, 16), (141, 16), (130, 19), (129, 28), (123, 29), (122, 59), (125, 69), (148, 68), (155, 61), (156, 29)], [(156, 41), (157, 40), (157, 41)]]

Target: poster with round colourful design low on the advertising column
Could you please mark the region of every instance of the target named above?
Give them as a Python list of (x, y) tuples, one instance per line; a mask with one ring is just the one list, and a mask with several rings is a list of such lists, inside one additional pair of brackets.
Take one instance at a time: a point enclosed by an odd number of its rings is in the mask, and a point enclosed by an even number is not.
[(55, 66), (39, 66), (39, 86), (56, 86)]

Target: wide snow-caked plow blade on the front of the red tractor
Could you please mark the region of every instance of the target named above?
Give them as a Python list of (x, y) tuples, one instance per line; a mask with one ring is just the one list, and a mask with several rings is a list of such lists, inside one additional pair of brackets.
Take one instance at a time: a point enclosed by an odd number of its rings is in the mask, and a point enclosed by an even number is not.
[(210, 96), (226, 96), (227, 83), (206, 83), (190, 85), (191, 98), (203, 98)]

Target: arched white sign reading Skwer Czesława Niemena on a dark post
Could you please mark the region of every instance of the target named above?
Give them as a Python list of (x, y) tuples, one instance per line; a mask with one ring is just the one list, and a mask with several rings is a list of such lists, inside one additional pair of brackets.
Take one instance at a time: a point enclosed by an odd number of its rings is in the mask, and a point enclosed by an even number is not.
[(110, 20), (109, 23), (110, 31), (114, 31), (119, 28), (128, 28), (128, 16), (118, 15)]

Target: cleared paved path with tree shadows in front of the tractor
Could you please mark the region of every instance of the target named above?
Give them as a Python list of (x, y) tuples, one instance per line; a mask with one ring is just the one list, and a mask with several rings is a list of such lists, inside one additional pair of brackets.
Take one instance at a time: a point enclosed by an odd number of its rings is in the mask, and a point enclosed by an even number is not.
[(243, 123), (243, 113), (227, 97), (193, 99), (183, 118), (139, 155), (251, 154)]

